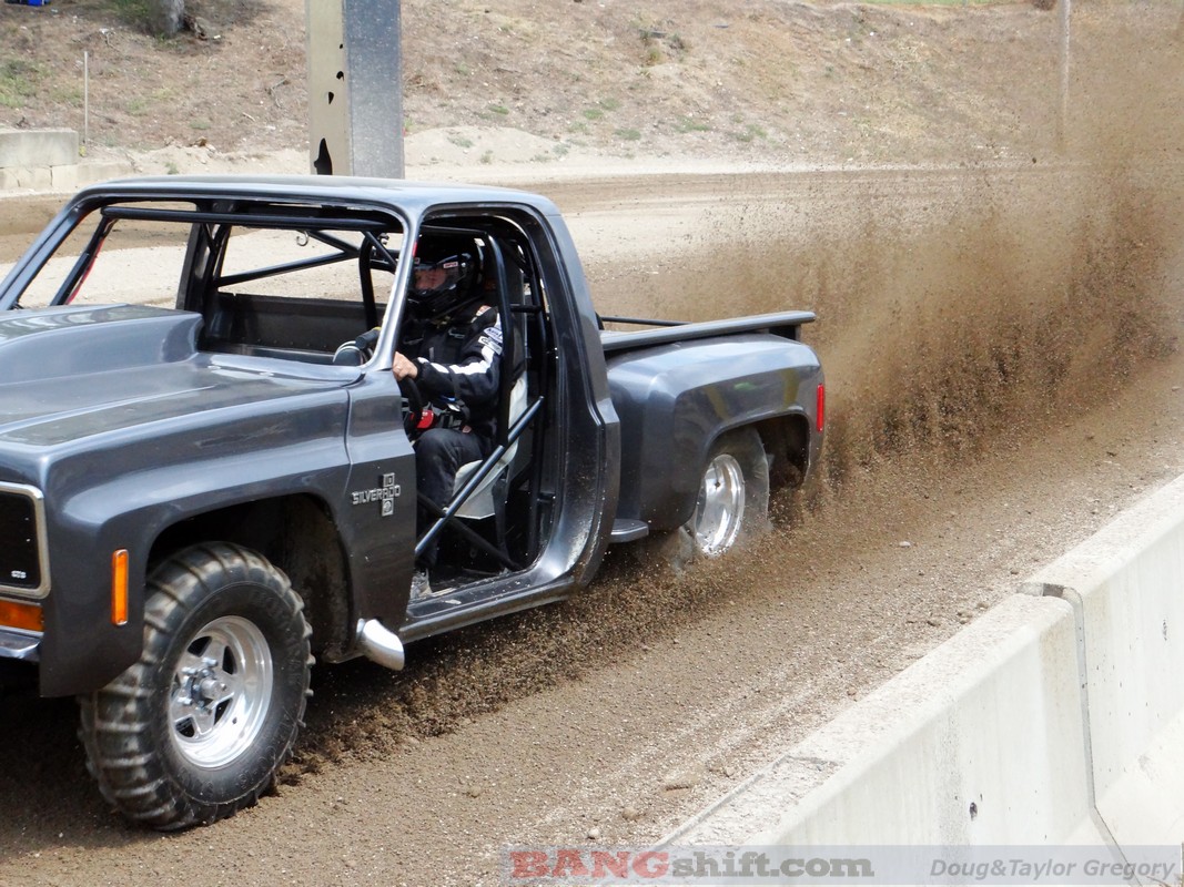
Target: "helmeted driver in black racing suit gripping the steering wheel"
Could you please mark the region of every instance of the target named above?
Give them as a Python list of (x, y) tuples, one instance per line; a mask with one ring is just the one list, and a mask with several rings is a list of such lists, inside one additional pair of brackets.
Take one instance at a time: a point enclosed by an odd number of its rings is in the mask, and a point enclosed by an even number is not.
[[(419, 491), (440, 509), (452, 498), (459, 467), (493, 452), (501, 351), (497, 310), (482, 303), (474, 252), (436, 260), (417, 255), (391, 371), (423, 396), (416, 478)], [(419, 531), (431, 520), (420, 510)], [(433, 544), (416, 563), (412, 600), (432, 594), (435, 566)]]

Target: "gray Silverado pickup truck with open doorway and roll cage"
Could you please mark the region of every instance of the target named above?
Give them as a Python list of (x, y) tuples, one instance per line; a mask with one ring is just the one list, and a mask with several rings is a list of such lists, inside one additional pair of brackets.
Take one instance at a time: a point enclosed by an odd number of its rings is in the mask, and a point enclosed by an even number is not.
[[(506, 363), (494, 452), (417, 532), (418, 395), (390, 368), (403, 257), (442, 234), (480, 255)], [(229, 816), (290, 755), (314, 656), (401, 668), (407, 642), (573, 594), (609, 545), (710, 557), (762, 529), (822, 444), (812, 319), (600, 317), (555, 206), (514, 190), (88, 188), (0, 284), (2, 680), (79, 699), (131, 820)], [(412, 600), (427, 544), (449, 590)]]

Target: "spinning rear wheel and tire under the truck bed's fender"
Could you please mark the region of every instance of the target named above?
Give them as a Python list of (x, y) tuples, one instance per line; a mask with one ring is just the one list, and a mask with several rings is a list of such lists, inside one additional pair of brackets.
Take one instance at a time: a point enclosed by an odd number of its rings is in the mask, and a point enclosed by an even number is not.
[(739, 428), (712, 447), (699, 483), (695, 513), (658, 542), (662, 558), (682, 572), (768, 531), (768, 459), (760, 434)]

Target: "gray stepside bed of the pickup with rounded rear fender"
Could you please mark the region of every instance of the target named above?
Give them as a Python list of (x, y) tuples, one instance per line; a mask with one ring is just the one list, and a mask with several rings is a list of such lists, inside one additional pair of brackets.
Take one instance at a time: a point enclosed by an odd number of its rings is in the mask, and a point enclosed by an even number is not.
[(708, 452), (733, 428), (758, 427), (770, 454), (805, 474), (819, 444), (811, 428), (822, 368), (799, 331), (813, 319), (784, 311), (601, 332), (620, 422), (618, 520), (656, 530), (687, 522)]

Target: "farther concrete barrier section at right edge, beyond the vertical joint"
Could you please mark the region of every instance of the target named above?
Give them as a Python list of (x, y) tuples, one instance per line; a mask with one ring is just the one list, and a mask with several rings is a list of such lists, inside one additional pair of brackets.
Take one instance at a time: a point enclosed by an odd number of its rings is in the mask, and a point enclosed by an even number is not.
[(1098, 810), (1121, 843), (1184, 836), (1184, 478), (1028, 590), (1061, 595), (1083, 641)]

